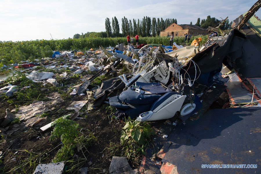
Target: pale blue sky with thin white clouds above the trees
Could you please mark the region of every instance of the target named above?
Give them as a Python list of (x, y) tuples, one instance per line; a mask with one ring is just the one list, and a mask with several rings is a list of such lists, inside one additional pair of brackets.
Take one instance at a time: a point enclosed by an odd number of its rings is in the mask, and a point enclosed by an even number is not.
[[(208, 15), (234, 20), (257, 0), (0, 0), (0, 41), (67, 39), (81, 32), (105, 31), (105, 19), (175, 18), (193, 24)], [(261, 18), (261, 10), (256, 12)], [(121, 32), (121, 30), (120, 30)], [(51, 35), (50, 35), (51, 33)]]

